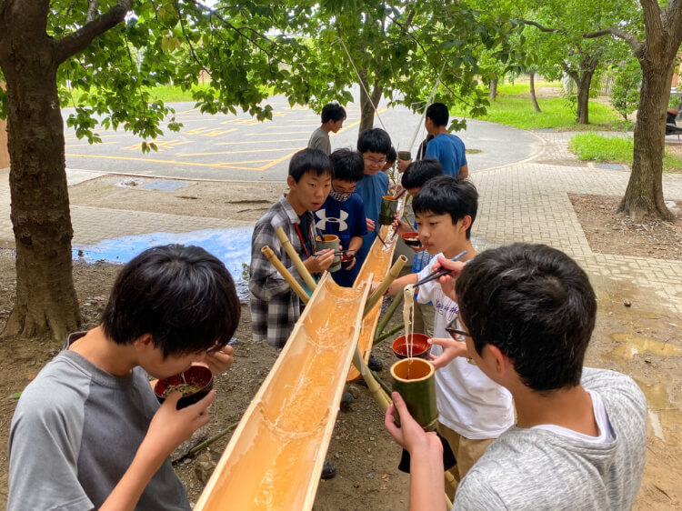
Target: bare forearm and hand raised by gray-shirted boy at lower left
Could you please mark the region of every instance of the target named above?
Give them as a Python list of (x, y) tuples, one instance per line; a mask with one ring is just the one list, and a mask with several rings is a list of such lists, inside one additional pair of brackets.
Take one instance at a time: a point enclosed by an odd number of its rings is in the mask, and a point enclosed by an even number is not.
[(174, 392), (155, 413), (145, 439), (135, 453), (133, 463), (106, 497), (100, 507), (101, 511), (135, 509), (142, 492), (165, 459), (208, 422), (208, 407), (211, 406), (216, 391), (211, 391), (195, 405), (176, 410), (181, 396), (179, 392)]

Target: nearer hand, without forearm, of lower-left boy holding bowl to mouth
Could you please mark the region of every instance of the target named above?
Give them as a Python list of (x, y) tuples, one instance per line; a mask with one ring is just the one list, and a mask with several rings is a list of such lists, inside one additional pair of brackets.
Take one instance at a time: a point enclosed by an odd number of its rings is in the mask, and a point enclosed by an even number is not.
[(140, 446), (140, 449), (144, 448), (150, 456), (160, 456), (165, 459), (177, 446), (210, 420), (208, 408), (216, 397), (215, 390), (209, 392), (198, 403), (176, 410), (180, 397), (182, 397), (181, 393), (173, 392), (165, 398), (164, 404), (152, 417), (145, 439)]

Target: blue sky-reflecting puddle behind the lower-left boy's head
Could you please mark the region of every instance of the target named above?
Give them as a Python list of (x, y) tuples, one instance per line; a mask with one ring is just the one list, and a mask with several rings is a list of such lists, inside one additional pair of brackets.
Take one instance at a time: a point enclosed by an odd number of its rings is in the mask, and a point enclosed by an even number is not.
[(251, 235), (253, 227), (231, 229), (204, 229), (190, 233), (149, 233), (106, 239), (96, 245), (74, 245), (75, 260), (94, 263), (108, 261), (127, 263), (143, 250), (156, 245), (177, 243), (198, 245), (220, 259), (235, 279), (240, 299), (248, 296), (248, 284), (242, 277), (243, 266), (251, 261)]

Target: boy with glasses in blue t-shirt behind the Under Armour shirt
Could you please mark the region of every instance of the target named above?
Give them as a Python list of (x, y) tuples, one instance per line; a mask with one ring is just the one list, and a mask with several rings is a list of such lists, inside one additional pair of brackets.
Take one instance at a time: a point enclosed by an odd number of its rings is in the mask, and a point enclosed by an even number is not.
[(381, 200), (388, 193), (388, 175), (381, 172), (391, 149), (391, 137), (381, 128), (367, 129), (357, 139), (357, 152), (365, 162), (365, 176), (356, 185), (356, 194), (365, 206), (367, 234), (356, 254), (356, 265), (362, 266), (381, 225), (378, 225)]

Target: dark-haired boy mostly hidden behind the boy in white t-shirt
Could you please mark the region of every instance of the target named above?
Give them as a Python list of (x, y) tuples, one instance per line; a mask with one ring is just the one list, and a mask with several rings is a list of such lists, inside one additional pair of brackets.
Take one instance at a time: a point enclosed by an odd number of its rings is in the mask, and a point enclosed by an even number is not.
[[(407, 166), (400, 184), (413, 197), (421, 189), (426, 182), (438, 175), (443, 175), (443, 167), (435, 158), (428, 158), (426, 160), (416, 160)], [(416, 222), (414, 226), (407, 225), (402, 219), (396, 218), (397, 235), (416, 230)], [(415, 257), (412, 260), (412, 273), (417, 274), (429, 265), (433, 255), (426, 252), (424, 246), (415, 247), (410, 246), (415, 251)], [(417, 290), (418, 292), (418, 290)], [(415, 304), (415, 333), (426, 334), (431, 337), (434, 335), (434, 305), (431, 303), (422, 304), (418, 301)]]

